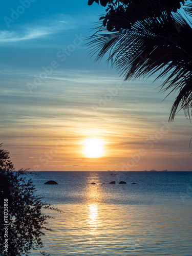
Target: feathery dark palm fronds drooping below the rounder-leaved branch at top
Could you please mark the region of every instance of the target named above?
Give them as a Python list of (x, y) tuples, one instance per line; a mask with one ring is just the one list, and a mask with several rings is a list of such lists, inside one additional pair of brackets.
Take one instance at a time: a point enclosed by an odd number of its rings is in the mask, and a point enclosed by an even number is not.
[(179, 106), (189, 114), (192, 102), (192, 29), (180, 14), (163, 12), (160, 16), (137, 20), (131, 28), (120, 32), (109, 33), (101, 28), (89, 39), (87, 45), (90, 54), (97, 54), (95, 60), (99, 61), (108, 54), (108, 61), (125, 80), (157, 72), (157, 79), (167, 76), (162, 90), (179, 90), (169, 120), (174, 120)]

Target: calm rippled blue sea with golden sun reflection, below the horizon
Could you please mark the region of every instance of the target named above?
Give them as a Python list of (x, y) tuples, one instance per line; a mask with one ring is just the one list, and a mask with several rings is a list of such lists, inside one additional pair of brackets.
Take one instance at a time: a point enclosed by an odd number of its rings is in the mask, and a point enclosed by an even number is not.
[(37, 193), (64, 211), (46, 212), (55, 217), (42, 239), (52, 256), (192, 255), (192, 172), (37, 174)]

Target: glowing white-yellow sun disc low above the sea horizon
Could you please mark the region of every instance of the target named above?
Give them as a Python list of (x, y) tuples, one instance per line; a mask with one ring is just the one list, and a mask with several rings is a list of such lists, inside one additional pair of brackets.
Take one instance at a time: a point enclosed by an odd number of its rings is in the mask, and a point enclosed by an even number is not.
[(104, 154), (103, 141), (100, 139), (87, 139), (83, 142), (84, 155), (87, 157), (101, 157)]

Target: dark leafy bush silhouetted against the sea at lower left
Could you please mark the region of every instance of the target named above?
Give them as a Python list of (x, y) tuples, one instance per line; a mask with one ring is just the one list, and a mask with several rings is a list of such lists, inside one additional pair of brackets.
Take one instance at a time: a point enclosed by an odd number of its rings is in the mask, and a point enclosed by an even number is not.
[[(2, 147), (2, 143), (0, 144)], [(5, 256), (29, 255), (31, 249), (39, 249), (42, 255), (49, 255), (40, 250), (43, 247), (41, 236), (43, 230), (51, 230), (45, 225), (47, 219), (53, 218), (42, 213), (45, 208), (61, 212), (51, 204), (42, 202), (38, 195), (35, 195), (35, 187), (29, 179), (26, 181), (24, 175), (28, 169), (15, 171), (10, 161), (9, 152), (0, 149), (0, 254)], [(32, 173), (31, 173), (32, 174)], [(8, 202), (8, 218), (4, 219), (4, 199)], [(5, 217), (6, 218), (6, 217)], [(8, 250), (5, 250), (4, 224), (8, 224)]]

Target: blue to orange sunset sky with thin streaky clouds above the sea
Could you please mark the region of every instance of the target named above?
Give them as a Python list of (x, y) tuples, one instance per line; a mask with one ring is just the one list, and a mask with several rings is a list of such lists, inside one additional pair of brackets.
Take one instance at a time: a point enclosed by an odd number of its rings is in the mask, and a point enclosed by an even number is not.
[[(182, 111), (168, 123), (177, 93), (164, 99), (161, 80), (123, 81), (94, 62), (85, 38), (105, 8), (87, 2), (10, 0), (0, 10), (0, 136), (15, 169), (192, 170), (191, 123)], [(102, 156), (84, 154), (91, 139)]]

